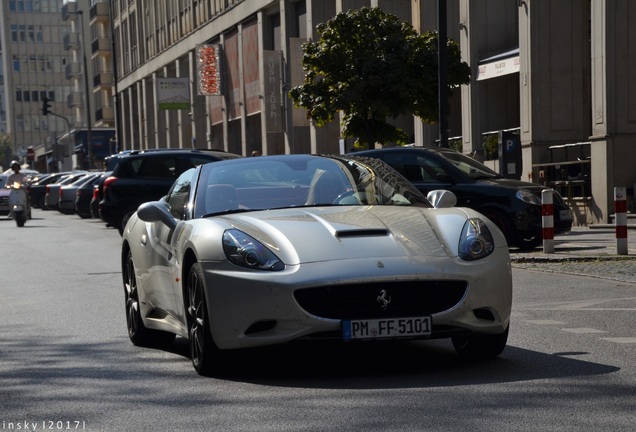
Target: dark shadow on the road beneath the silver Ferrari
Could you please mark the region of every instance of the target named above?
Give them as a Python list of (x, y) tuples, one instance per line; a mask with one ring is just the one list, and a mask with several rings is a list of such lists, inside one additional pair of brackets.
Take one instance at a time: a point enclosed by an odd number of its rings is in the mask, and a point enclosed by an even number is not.
[[(175, 351), (187, 357), (187, 341)], [(619, 368), (506, 347), (495, 359), (468, 361), (450, 340), (296, 342), (225, 353), (215, 378), (281, 387), (382, 389), (448, 387), (601, 375)]]

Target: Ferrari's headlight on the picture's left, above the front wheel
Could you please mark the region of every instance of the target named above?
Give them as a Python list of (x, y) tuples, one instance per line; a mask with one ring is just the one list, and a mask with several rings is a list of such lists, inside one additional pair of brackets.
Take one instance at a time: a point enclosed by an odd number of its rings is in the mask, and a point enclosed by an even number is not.
[(258, 240), (237, 229), (223, 233), (223, 251), (232, 263), (254, 270), (279, 271), (285, 264)]

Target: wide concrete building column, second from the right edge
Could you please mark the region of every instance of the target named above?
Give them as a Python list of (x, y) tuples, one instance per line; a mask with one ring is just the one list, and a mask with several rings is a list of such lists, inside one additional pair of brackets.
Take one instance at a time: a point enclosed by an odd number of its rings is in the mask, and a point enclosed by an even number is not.
[(591, 134), (589, 7), (579, 0), (519, 2), (522, 173), (537, 183), (561, 180), (539, 177), (556, 169), (541, 164), (566, 162), (549, 147)]

